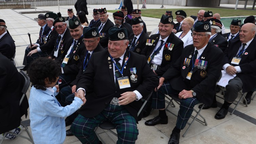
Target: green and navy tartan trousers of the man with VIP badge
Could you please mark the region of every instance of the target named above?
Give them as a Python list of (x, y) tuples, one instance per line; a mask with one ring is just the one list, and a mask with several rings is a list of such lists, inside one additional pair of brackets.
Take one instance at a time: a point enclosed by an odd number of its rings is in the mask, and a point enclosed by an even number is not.
[(137, 123), (123, 106), (109, 104), (100, 114), (92, 118), (85, 118), (79, 114), (70, 129), (83, 144), (98, 144), (99, 139), (94, 130), (104, 121), (116, 125), (117, 144), (135, 144), (139, 134)]

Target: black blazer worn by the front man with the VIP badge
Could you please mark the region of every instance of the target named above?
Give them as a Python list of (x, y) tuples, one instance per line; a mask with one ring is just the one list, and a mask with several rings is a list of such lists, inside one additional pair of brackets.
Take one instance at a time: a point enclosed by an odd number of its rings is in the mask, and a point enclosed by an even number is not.
[[(124, 60), (126, 56), (129, 57), (128, 50), (125, 52)], [(90, 118), (98, 115), (114, 97), (119, 98), (120, 94), (126, 91), (138, 90), (145, 98), (159, 83), (158, 77), (147, 66), (146, 58), (130, 52), (123, 76), (129, 78), (131, 87), (119, 89), (119, 86), (116, 87), (115, 84), (114, 66), (113, 62), (108, 60), (109, 57), (108, 50), (92, 54), (85, 73), (78, 80), (77, 89), (81, 87), (86, 92), (86, 103), (78, 110), (78, 113), (84, 117)], [(111, 68), (110, 65), (112, 65)], [(132, 67), (136, 67), (137, 82), (132, 82), (130, 78)], [(138, 121), (137, 112), (141, 105), (141, 100), (138, 100), (124, 105), (124, 108)]]

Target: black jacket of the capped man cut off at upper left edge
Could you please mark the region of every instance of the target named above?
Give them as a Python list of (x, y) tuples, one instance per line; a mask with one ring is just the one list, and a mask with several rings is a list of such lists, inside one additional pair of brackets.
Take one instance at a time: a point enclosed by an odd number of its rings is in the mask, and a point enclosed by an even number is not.
[(13, 58), (16, 53), (14, 40), (8, 33), (0, 39), (0, 53), (8, 59)]

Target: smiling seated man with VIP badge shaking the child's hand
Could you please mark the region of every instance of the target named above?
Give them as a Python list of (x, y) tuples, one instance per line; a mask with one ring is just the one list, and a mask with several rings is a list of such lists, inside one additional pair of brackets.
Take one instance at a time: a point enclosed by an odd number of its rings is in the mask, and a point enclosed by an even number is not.
[(71, 131), (82, 143), (101, 144), (94, 129), (106, 120), (116, 126), (117, 143), (134, 144), (138, 138), (141, 98), (156, 87), (158, 78), (144, 56), (126, 49), (128, 44), (126, 29), (110, 28), (108, 50), (93, 53), (78, 80), (78, 95), (86, 94), (87, 104), (78, 110)]

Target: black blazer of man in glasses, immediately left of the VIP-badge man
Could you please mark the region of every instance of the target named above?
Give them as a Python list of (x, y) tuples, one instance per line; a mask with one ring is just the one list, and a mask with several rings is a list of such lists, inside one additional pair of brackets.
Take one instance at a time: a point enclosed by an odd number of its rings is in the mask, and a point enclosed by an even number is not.
[[(103, 51), (103, 50), (104, 50), (104, 48), (100, 45), (100, 43), (98, 43), (98, 45), (97, 45), (97, 47), (94, 49), (93, 53), (101, 52), (101, 51)], [(80, 67), (79, 67), (79, 72), (78, 72), (78, 74), (77, 74), (77, 76), (76, 76), (76, 79), (75, 79), (73, 82), (70, 83), (71, 85), (77, 85), (77, 81), (79, 80), (80, 76), (84, 73), (83, 67), (84, 67), (85, 64), (84, 64), (83, 62), (84, 62), (86, 53), (87, 53), (87, 50), (86, 50), (86, 48), (85, 48), (85, 50), (84, 50), (84, 57), (81, 58), (81, 59), (82, 59), (82, 63), (81, 63), (81, 65), (80, 65)], [(87, 65), (87, 66), (88, 66), (88, 65)], [(87, 66), (86, 66), (86, 67), (87, 67)]]

